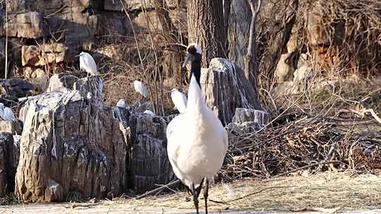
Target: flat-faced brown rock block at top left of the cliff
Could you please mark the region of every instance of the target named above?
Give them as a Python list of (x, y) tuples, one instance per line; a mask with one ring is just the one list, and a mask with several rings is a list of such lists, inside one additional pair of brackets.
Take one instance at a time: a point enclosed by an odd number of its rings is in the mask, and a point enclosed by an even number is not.
[[(47, 28), (41, 13), (34, 11), (9, 13), (8, 20), (8, 37), (39, 39), (47, 34)], [(1, 36), (6, 34), (5, 25), (3, 29)]]

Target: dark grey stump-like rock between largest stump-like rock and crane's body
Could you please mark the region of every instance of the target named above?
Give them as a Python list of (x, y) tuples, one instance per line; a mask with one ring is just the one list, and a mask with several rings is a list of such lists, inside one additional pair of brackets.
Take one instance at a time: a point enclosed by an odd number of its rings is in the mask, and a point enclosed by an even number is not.
[(131, 115), (129, 186), (137, 193), (167, 184), (176, 177), (167, 156), (167, 122), (144, 113)]

